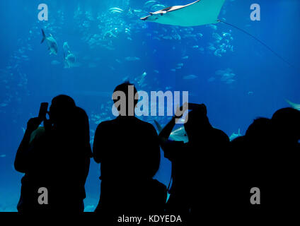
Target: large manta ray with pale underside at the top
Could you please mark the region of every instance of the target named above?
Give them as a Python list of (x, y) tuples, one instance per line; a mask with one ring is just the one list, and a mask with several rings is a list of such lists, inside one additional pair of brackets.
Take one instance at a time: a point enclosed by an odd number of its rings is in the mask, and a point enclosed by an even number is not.
[(185, 6), (171, 6), (141, 18), (149, 22), (183, 27), (219, 23), (218, 16), (225, 0), (198, 0)]

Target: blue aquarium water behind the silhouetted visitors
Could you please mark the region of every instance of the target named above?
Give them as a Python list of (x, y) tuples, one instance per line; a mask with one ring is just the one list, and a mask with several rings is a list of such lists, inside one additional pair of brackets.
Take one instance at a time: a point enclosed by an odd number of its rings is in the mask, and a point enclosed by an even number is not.
[[(182, 28), (139, 20), (150, 11), (145, 2), (0, 1), (0, 211), (16, 210), (23, 175), (13, 168), (13, 161), (26, 123), (37, 115), (40, 102), (50, 102), (55, 95), (71, 95), (86, 110), (91, 143), (100, 121), (113, 118), (111, 93), (126, 79), (146, 92), (189, 91), (190, 102), (205, 103), (212, 125), (228, 136), (238, 129), (243, 134), (256, 117), (271, 117), (275, 110), (287, 107), (286, 99), (300, 102), (299, 1), (226, 0), (219, 15), (258, 37), (294, 66), (229, 25)], [(37, 19), (41, 3), (48, 6), (48, 21)], [(260, 21), (250, 20), (253, 3), (260, 4)], [(112, 7), (123, 11), (113, 13)], [(41, 28), (57, 40), (57, 56), (40, 44)], [(219, 43), (216, 34), (221, 37)], [(76, 66), (70, 69), (64, 69), (64, 42), (76, 56)], [(227, 47), (221, 49), (226, 52), (218, 56), (214, 48), (224, 42)], [(229, 79), (224, 73), (234, 76)], [(142, 119), (166, 124), (169, 117)], [(86, 211), (98, 203), (99, 169), (92, 161)], [(163, 158), (156, 178), (168, 184), (170, 172), (171, 164)]]

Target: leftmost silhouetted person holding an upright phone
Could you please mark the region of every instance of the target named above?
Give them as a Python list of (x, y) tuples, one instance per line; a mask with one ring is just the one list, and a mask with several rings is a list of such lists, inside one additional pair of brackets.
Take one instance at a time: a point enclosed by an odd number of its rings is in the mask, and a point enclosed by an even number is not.
[[(18, 211), (81, 212), (92, 156), (88, 116), (67, 95), (53, 98), (49, 116), (28, 121), (16, 153), (15, 168), (25, 173)], [(40, 188), (47, 189), (42, 204)]]

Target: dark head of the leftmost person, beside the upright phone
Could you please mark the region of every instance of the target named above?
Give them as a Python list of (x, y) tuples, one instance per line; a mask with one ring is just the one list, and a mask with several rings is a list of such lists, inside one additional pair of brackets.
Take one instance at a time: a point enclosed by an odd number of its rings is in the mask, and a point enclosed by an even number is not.
[(56, 126), (68, 124), (76, 105), (74, 100), (67, 95), (58, 95), (51, 102), (49, 116), (52, 123)]

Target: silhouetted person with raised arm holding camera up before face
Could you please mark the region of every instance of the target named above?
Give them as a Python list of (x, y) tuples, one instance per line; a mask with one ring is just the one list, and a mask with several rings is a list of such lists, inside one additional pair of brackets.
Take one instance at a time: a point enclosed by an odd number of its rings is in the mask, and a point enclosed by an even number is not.
[[(183, 109), (191, 109), (185, 131), (188, 143), (170, 141), (168, 137), (175, 126), (175, 117), (159, 133), (165, 157), (172, 162), (173, 184), (166, 206), (168, 213), (183, 215), (183, 218), (199, 218), (200, 210), (216, 213), (224, 198), (224, 154), (229, 146), (229, 137), (209, 123), (205, 105), (187, 103)], [(178, 109), (179, 111), (179, 109)], [(224, 161), (224, 162), (223, 162)], [(198, 219), (199, 220), (199, 219)]]

